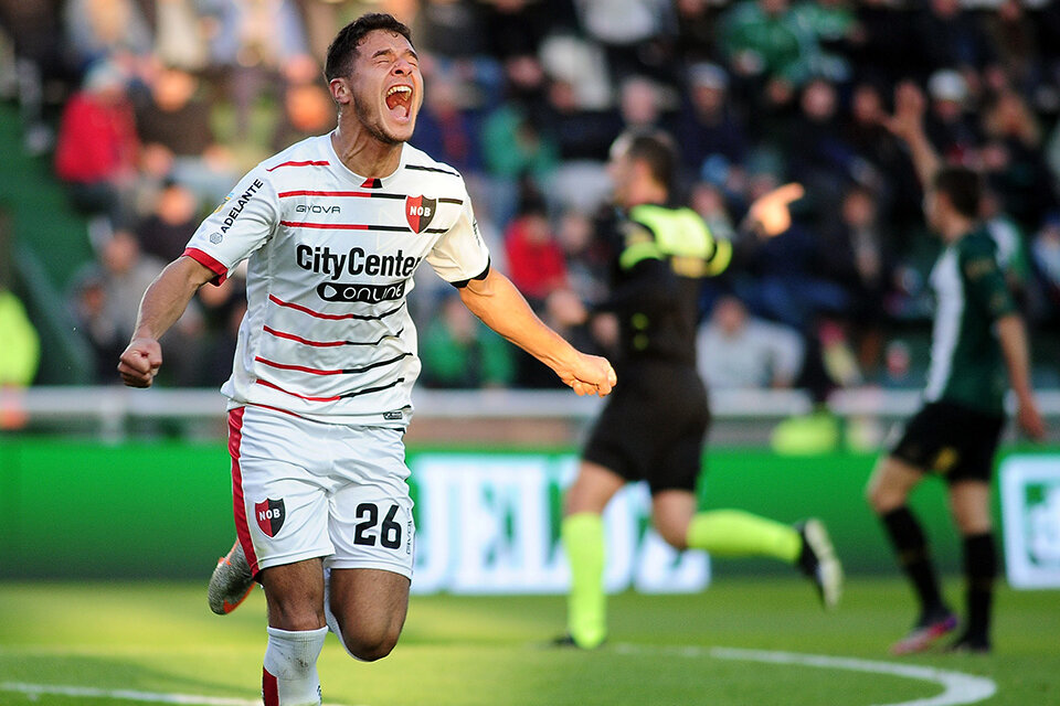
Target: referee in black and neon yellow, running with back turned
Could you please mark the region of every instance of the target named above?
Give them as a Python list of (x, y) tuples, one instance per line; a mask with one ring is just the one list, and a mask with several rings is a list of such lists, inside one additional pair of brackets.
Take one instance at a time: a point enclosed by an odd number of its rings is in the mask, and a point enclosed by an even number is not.
[(593, 649), (607, 635), (602, 514), (629, 481), (648, 482), (653, 524), (672, 547), (774, 557), (809, 576), (826, 606), (839, 599), (842, 573), (819, 521), (792, 527), (736, 510), (697, 511), (710, 420), (696, 367), (699, 290), (703, 277), (725, 269), (732, 249), (693, 211), (667, 205), (675, 165), (661, 133), (627, 133), (612, 148), (617, 257), (613, 293), (600, 309), (618, 318), (623, 385), (597, 419), (565, 496), (571, 588), (560, 644)]

